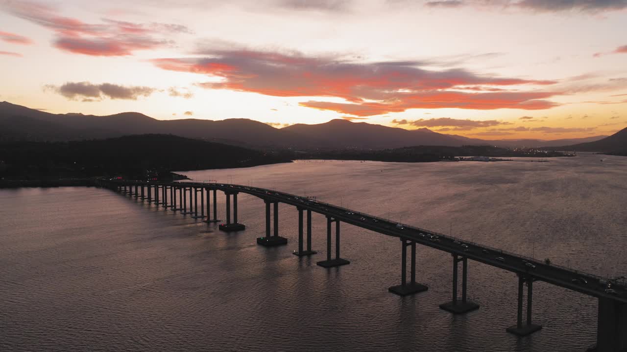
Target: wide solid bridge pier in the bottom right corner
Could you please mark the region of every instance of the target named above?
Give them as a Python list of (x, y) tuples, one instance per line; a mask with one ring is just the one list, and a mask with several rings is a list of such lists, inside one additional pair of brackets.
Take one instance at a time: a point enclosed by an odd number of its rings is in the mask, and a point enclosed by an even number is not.
[(627, 304), (611, 298), (599, 298), (596, 346), (588, 351), (627, 351)]

